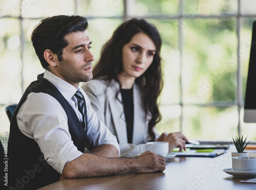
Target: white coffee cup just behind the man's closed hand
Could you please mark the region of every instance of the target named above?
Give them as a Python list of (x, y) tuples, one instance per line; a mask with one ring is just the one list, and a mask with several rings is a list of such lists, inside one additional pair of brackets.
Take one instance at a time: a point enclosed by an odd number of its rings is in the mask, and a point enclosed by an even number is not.
[(166, 156), (169, 152), (168, 142), (147, 142), (145, 145), (141, 145), (141, 152), (151, 151), (162, 156)]

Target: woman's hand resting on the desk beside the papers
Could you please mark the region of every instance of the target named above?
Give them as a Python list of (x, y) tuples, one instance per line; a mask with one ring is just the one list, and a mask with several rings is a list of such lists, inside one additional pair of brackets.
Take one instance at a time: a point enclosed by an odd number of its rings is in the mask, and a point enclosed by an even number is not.
[(186, 150), (185, 141), (188, 139), (181, 133), (162, 133), (156, 141), (163, 141), (169, 143), (169, 152), (172, 152), (174, 148), (180, 148), (180, 152)]

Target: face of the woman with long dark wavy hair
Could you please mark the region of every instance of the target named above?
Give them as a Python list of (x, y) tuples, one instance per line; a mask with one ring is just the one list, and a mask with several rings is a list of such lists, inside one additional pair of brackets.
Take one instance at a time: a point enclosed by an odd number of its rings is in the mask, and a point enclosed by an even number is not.
[(151, 65), (156, 54), (156, 46), (145, 33), (133, 36), (129, 43), (123, 45), (121, 75), (138, 78)]

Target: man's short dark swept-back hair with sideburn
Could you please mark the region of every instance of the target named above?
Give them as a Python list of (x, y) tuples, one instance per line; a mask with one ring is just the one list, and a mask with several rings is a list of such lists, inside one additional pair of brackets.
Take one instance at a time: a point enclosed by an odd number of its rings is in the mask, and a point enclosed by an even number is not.
[(83, 32), (87, 27), (87, 18), (82, 16), (58, 15), (42, 19), (31, 35), (31, 41), (42, 67), (47, 69), (49, 66), (44, 58), (46, 50), (57, 54), (58, 60), (62, 61), (63, 48), (68, 45), (68, 41), (64, 39), (65, 35)]

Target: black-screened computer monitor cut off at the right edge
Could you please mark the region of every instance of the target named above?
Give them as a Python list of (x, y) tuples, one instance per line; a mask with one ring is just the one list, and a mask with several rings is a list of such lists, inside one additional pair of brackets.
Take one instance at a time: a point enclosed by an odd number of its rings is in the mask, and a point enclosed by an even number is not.
[(256, 21), (253, 22), (251, 51), (244, 104), (244, 122), (256, 123)]

